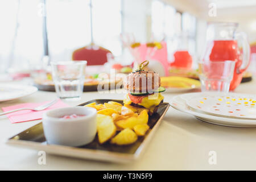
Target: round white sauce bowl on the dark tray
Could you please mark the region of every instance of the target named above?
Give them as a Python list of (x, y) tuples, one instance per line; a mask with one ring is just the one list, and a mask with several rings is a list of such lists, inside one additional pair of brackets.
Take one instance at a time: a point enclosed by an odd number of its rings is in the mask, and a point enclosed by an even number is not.
[[(64, 119), (64, 115), (85, 115)], [(92, 107), (64, 107), (43, 115), (43, 129), (48, 144), (82, 146), (92, 142), (96, 133), (97, 110)]]

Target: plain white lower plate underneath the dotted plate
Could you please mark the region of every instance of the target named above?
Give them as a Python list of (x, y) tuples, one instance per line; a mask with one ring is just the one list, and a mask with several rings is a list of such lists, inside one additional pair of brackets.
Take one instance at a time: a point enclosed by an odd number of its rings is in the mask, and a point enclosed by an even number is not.
[(218, 117), (214, 115), (198, 113), (196, 111), (191, 110), (190, 107), (187, 106), (187, 101), (190, 100), (191, 98), (204, 97), (206, 96), (206, 94), (215, 94), (215, 93), (197, 92), (197, 93), (181, 94), (179, 96), (175, 96), (174, 98), (172, 98), (170, 105), (175, 109), (180, 110), (187, 114), (191, 114), (195, 118), (204, 122), (221, 125), (221, 126), (256, 127), (256, 119), (237, 119), (237, 118)]

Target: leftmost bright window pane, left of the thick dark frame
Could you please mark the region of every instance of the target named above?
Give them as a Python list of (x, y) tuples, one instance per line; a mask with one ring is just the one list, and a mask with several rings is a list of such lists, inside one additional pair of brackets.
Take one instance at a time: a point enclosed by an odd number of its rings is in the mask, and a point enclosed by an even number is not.
[(43, 54), (40, 0), (0, 2), (0, 72), (27, 70)]

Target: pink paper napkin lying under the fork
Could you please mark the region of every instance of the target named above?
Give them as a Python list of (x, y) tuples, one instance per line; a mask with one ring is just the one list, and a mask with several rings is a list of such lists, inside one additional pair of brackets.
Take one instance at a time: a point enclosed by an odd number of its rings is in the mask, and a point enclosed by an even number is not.
[[(23, 107), (28, 108), (34, 108), (43, 104), (47, 104), (51, 101), (41, 102), (41, 103), (26, 103), (26, 104), (19, 104), (9, 107), (2, 107), (2, 110), (4, 112), (14, 109), (20, 109)], [(32, 111), (32, 110), (21, 110), (17, 111), (15, 113), (7, 114), (7, 117), (10, 119), (11, 123), (19, 123), (19, 122), (25, 122), (25, 121), (33, 121), (37, 119), (42, 119), (43, 113), (47, 110), (57, 109), (61, 107), (68, 107), (69, 105), (65, 104), (63, 101), (58, 100), (55, 104), (49, 106), (47, 109), (44, 109), (42, 111)]]

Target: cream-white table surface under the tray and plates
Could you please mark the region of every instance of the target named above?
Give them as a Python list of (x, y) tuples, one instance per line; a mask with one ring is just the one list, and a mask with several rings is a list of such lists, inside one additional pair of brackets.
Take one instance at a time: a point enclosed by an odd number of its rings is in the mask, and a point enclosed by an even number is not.
[[(243, 83), (237, 93), (254, 94), (256, 81)], [(180, 93), (163, 93), (164, 101)], [(94, 98), (122, 100), (124, 94), (86, 92), (80, 101), (67, 102), (71, 106)], [(0, 102), (0, 107), (25, 102), (42, 102), (56, 98), (55, 92), (38, 91), (13, 101)], [(38, 151), (5, 144), (6, 140), (39, 123), (30, 121), (11, 124), (0, 118), (0, 169), (18, 170), (243, 170), (256, 169), (256, 128), (235, 128), (200, 122), (192, 115), (170, 107), (163, 123), (156, 131), (146, 152), (136, 162), (116, 164), (93, 160), (46, 155), (46, 164), (38, 164)], [(216, 164), (209, 164), (209, 151), (216, 151)]]

